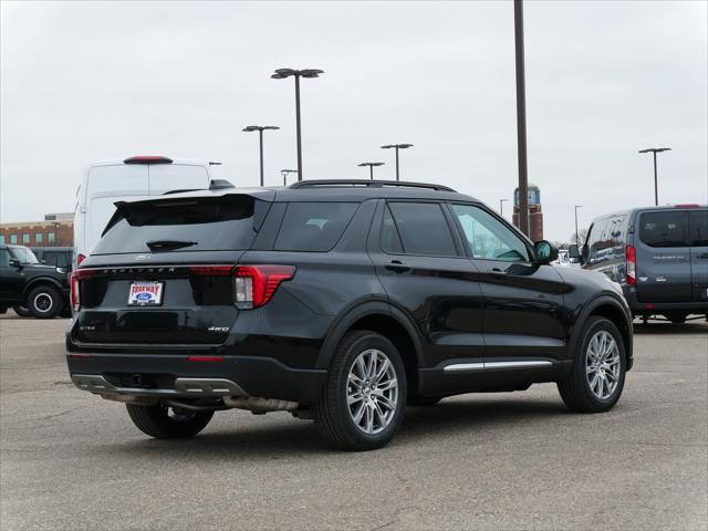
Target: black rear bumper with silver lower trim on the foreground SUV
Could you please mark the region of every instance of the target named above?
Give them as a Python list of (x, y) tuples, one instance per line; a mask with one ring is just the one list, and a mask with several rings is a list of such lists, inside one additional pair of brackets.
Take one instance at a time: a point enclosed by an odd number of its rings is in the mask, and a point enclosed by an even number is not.
[[(67, 354), (66, 361), (72, 381), (83, 391), (145, 397), (258, 396), (311, 404), (326, 376), (326, 371), (292, 368), (271, 357), (223, 356), (222, 361), (209, 362), (187, 357)], [(140, 381), (146, 383), (140, 385)]]

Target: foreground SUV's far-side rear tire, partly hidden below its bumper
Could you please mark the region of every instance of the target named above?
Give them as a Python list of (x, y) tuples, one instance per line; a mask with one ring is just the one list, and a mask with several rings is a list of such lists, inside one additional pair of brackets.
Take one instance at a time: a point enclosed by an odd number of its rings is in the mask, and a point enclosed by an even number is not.
[(214, 412), (187, 412), (163, 405), (125, 405), (137, 428), (156, 439), (183, 439), (207, 427)]

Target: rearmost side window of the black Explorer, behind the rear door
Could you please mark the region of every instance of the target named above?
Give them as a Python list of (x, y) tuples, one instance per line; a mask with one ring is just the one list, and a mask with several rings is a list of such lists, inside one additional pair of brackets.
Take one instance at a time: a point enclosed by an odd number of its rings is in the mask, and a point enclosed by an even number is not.
[(358, 202), (291, 202), (275, 239), (277, 251), (326, 252), (350, 225)]

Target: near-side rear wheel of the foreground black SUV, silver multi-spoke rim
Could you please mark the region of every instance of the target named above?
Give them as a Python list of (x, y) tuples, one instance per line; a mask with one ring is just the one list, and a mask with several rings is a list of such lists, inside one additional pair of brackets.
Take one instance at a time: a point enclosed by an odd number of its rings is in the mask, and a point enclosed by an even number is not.
[[(366, 366), (372, 358), (373, 369)], [(364, 385), (350, 379), (350, 373)], [(365, 385), (366, 382), (373, 387)], [(386, 446), (398, 431), (406, 410), (406, 369), (396, 346), (375, 332), (351, 332), (337, 346), (312, 416), (331, 446), (343, 450), (374, 450)], [(347, 398), (355, 402), (350, 405)]]

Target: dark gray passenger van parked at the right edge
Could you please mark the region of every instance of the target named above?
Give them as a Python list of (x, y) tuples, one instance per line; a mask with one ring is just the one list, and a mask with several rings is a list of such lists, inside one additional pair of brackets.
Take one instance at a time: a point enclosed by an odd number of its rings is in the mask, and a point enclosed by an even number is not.
[(595, 218), (571, 258), (622, 285), (637, 316), (708, 319), (708, 206), (635, 208)]

